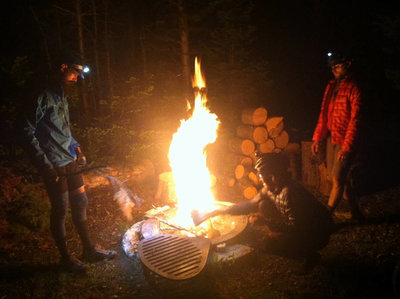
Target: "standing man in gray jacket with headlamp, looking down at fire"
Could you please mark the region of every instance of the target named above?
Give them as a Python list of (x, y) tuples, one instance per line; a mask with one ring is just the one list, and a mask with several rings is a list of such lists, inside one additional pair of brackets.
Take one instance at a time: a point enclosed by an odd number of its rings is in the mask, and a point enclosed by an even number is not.
[(72, 137), (67, 92), (84, 78), (88, 68), (73, 54), (66, 54), (56, 65), (53, 82), (36, 100), (36, 109), (29, 111), (24, 128), (34, 161), (43, 176), (51, 202), (50, 228), (61, 255), (60, 265), (69, 272), (83, 272), (85, 265), (68, 253), (65, 219), (68, 205), (74, 226), (83, 245), (82, 259), (96, 262), (112, 259), (116, 253), (95, 247), (89, 237), (86, 207), (88, 198), (81, 174), (86, 158), (79, 143)]

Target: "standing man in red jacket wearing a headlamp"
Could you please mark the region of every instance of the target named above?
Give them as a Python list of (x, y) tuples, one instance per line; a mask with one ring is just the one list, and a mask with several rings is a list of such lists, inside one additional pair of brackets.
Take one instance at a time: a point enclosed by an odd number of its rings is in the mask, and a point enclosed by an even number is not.
[(328, 64), (334, 79), (325, 89), (321, 113), (313, 135), (312, 153), (316, 155), (326, 140), (326, 161), (332, 177), (328, 208), (333, 213), (344, 195), (350, 204), (354, 220), (364, 217), (359, 209), (354, 190), (348, 183), (351, 159), (359, 132), (361, 94), (352, 80), (352, 60), (339, 53), (328, 53)]

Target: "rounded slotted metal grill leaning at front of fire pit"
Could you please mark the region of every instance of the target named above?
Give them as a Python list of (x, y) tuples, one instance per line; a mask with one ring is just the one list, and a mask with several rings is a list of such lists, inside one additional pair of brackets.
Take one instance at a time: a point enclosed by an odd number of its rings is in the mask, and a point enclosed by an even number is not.
[(139, 242), (140, 260), (153, 272), (169, 279), (191, 278), (204, 268), (210, 240), (177, 235), (156, 235)]

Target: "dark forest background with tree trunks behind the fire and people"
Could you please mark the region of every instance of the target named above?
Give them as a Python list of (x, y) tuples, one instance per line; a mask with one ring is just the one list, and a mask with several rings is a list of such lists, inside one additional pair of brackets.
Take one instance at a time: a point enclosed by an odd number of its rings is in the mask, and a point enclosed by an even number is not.
[(202, 61), (221, 131), (245, 107), (285, 118), (291, 141), (310, 140), (330, 78), (326, 53), (354, 58), (366, 134), (397, 143), (400, 15), (395, 1), (13, 1), (1, 11), (3, 161), (21, 163), (22, 112), (73, 50), (92, 72), (70, 99), (73, 132), (98, 163), (166, 164), (172, 134), (193, 100)]

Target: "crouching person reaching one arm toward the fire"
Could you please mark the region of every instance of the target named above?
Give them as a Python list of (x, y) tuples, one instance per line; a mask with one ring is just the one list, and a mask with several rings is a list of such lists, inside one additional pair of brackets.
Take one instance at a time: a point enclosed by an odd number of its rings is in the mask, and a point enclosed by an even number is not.
[(219, 214), (258, 212), (270, 228), (263, 249), (272, 254), (302, 258), (302, 270), (311, 270), (319, 262), (319, 251), (328, 244), (333, 232), (330, 213), (318, 199), (290, 178), (288, 162), (283, 154), (261, 155), (255, 169), (263, 188), (252, 200), (206, 215), (194, 212), (195, 224)]

